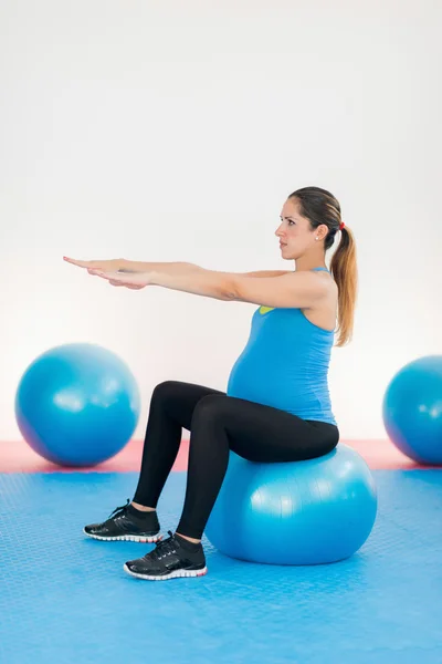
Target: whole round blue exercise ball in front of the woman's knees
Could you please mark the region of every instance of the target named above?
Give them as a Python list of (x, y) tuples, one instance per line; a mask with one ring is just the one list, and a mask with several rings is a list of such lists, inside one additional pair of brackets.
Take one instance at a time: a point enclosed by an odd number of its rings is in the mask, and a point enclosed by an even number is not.
[(24, 372), (15, 417), (30, 447), (60, 466), (95, 466), (117, 454), (139, 417), (137, 383), (113, 352), (95, 344), (51, 349)]

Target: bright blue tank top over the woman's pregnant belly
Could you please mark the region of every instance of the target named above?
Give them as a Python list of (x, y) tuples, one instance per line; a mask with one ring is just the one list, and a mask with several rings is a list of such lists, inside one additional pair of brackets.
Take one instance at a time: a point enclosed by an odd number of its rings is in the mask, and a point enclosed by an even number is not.
[(301, 309), (260, 307), (230, 373), (227, 394), (336, 425), (328, 391), (334, 338), (333, 331), (312, 323)]

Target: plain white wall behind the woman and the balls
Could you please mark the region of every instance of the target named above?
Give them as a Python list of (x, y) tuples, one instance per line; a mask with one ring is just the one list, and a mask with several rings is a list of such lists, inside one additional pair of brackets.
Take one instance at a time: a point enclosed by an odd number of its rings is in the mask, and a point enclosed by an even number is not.
[(62, 256), (278, 269), (285, 197), (316, 185), (357, 238), (344, 437), (383, 437), (392, 374), (442, 352), (442, 4), (431, 0), (0, 3), (0, 438), (28, 364), (99, 343), (145, 414), (167, 378), (224, 388), (253, 305), (127, 291)]

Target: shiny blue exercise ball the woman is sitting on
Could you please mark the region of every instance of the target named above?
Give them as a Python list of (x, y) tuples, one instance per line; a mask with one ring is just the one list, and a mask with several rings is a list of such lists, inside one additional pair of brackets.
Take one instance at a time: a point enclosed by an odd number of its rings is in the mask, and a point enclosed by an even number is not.
[(230, 453), (206, 535), (231, 558), (329, 563), (364, 544), (376, 513), (372, 475), (346, 445), (316, 459), (284, 464), (256, 464)]

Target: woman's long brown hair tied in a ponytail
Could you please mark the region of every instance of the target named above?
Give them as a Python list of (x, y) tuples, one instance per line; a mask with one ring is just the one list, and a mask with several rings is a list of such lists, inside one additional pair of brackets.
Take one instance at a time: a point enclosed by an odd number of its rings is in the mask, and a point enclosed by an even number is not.
[(299, 203), (299, 214), (306, 217), (312, 228), (325, 224), (328, 234), (325, 238), (325, 250), (335, 241), (336, 234), (340, 230), (340, 241), (333, 255), (330, 272), (338, 287), (338, 346), (343, 346), (351, 339), (358, 272), (356, 266), (356, 246), (351, 230), (341, 226), (340, 205), (326, 189), (319, 187), (304, 187), (288, 196)]

